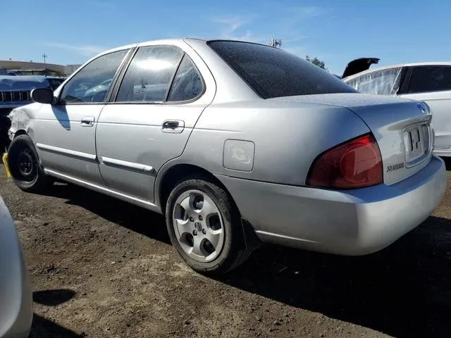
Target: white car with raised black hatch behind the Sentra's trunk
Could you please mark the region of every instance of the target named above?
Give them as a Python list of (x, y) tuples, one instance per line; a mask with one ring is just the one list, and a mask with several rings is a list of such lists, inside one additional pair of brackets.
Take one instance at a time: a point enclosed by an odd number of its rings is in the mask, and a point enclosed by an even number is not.
[(451, 156), (451, 62), (409, 63), (369, 70), (378, 61), (359, 58), (350, 62), (342, 80), (364, 94), (426, 102), (433, 115), (434, 154)]

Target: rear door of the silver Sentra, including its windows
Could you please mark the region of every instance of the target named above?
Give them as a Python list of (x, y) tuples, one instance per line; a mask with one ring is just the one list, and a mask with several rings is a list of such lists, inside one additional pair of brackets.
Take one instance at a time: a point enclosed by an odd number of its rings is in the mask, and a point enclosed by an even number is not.
[[(182, 48), (181, 48), (182, 47)], [(152, 204), (161, 165), (182, 154), (214, 85), (202, 59), (184, 45), (140, 46), (117, 87), (116, 99), (99, 117), (99, 168), (111, 191)], [(197, 60), (197, 67), (193, 59)]]

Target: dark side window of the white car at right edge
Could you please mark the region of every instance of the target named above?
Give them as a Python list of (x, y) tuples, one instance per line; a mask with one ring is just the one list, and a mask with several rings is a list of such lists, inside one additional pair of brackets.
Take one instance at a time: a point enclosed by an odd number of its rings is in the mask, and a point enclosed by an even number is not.
[(407, 93), (451, 90), (451, 66), (416, 67), (410, 77)]

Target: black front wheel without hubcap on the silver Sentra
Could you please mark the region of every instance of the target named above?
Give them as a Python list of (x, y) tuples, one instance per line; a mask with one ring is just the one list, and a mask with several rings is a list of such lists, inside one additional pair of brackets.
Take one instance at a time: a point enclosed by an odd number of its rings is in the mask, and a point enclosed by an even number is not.
[(8, 167), (16, 185), (26, 192), (38, 192), (53, 182), (45, 175), (35, 145), (28, 135), (19, 135), (11, 142)]

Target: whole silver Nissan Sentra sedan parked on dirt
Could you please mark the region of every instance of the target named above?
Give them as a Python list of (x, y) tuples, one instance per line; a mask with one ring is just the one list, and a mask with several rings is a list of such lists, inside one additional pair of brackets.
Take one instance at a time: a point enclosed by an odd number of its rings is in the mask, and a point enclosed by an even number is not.
[(358, 94), (271, 46), (123, 46), (32, 99), (10, 115), (18, 187), (58, 178), (163, 213), (202, 273), (235, 268), (261, 242), (372, 253), (445, 193), (426, 104)]

